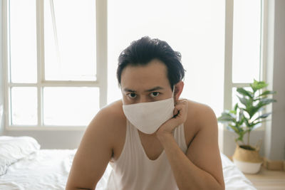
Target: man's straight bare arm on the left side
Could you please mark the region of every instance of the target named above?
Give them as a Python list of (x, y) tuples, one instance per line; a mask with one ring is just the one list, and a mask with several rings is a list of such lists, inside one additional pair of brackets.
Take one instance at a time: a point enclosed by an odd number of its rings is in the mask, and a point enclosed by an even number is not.
[(88, 125), (73, 159), (66, 190), (95, 189), (112, 156), (110, 118), (106, 110), (100, 110)]

